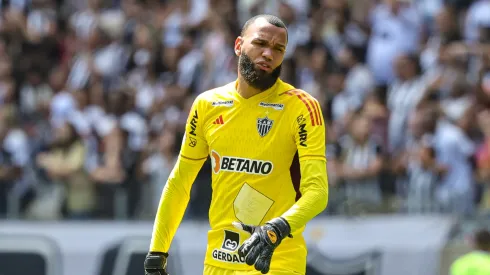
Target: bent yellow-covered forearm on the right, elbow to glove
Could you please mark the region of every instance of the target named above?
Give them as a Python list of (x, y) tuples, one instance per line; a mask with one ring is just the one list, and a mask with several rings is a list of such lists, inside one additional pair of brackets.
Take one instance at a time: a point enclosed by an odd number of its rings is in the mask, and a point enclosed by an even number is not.
[(301, 161), (301, 198), (282, 215), (291, 232), (304, 227), (320, 214), (328, 203), (328, 178), (325, 160)]

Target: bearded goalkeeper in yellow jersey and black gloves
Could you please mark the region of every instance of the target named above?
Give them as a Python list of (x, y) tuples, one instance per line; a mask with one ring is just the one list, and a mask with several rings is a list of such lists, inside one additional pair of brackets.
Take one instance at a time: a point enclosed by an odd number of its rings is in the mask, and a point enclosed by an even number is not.
[(195, 100), (160, 200), (146, 274), (167, 274), (170, 243), (208, 156), (204, 274), (305, 274), (302, 232), (328, 200), (325, 126), (318, 101), (279, 79), (286, 46), (279, 18), (253, 17), (235, 41), (238, 79)]

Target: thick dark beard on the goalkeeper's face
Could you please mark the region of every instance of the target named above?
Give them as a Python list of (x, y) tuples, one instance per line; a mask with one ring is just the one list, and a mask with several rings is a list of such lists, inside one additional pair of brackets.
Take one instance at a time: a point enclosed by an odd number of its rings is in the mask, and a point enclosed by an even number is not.
[(248, 85), (262, 92), (274, 86), (281, 75), (281, 66), (282, 64), (268, 73), (255, 68), (252, 59), (245, 53), (242, 53), (238, 58), (238, 69), (243, 79)]

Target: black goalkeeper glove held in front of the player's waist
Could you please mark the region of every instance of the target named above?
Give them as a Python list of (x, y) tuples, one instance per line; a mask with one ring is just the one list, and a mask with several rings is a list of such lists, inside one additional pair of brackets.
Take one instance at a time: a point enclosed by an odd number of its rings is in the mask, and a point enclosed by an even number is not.
[(246, 225), (241, 222), (234, 222), (233, 226), (252, 234), (238, 248), (238, 255), (245, 257), (245, 262), (255, 265), (255, 269), (262, 274), (269, 272), (272, 253), (281, 241), (286, 237), (293, 237), (289, 223), (281, 217), (274, 218), (263, 226)]

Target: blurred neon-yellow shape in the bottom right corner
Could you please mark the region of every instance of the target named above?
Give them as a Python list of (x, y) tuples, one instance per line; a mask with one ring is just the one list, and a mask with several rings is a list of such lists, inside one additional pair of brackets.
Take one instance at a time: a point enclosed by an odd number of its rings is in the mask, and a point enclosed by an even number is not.
[(451, 275), (488, 275), (490, 274), (490, 254), (471, 252), (458, 258), (451, 265)]

